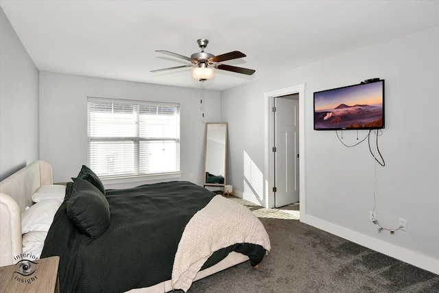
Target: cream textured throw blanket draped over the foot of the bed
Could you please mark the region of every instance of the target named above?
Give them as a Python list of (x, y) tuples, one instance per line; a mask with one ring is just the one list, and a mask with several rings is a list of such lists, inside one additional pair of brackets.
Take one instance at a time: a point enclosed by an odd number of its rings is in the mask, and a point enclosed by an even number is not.
[(247, 207), (215, 196), (185, 227), (174, 259), (172, 288), (189, 290), (195, 275), (215, 251), (237, 243), (271, 249), (267, 231)]

